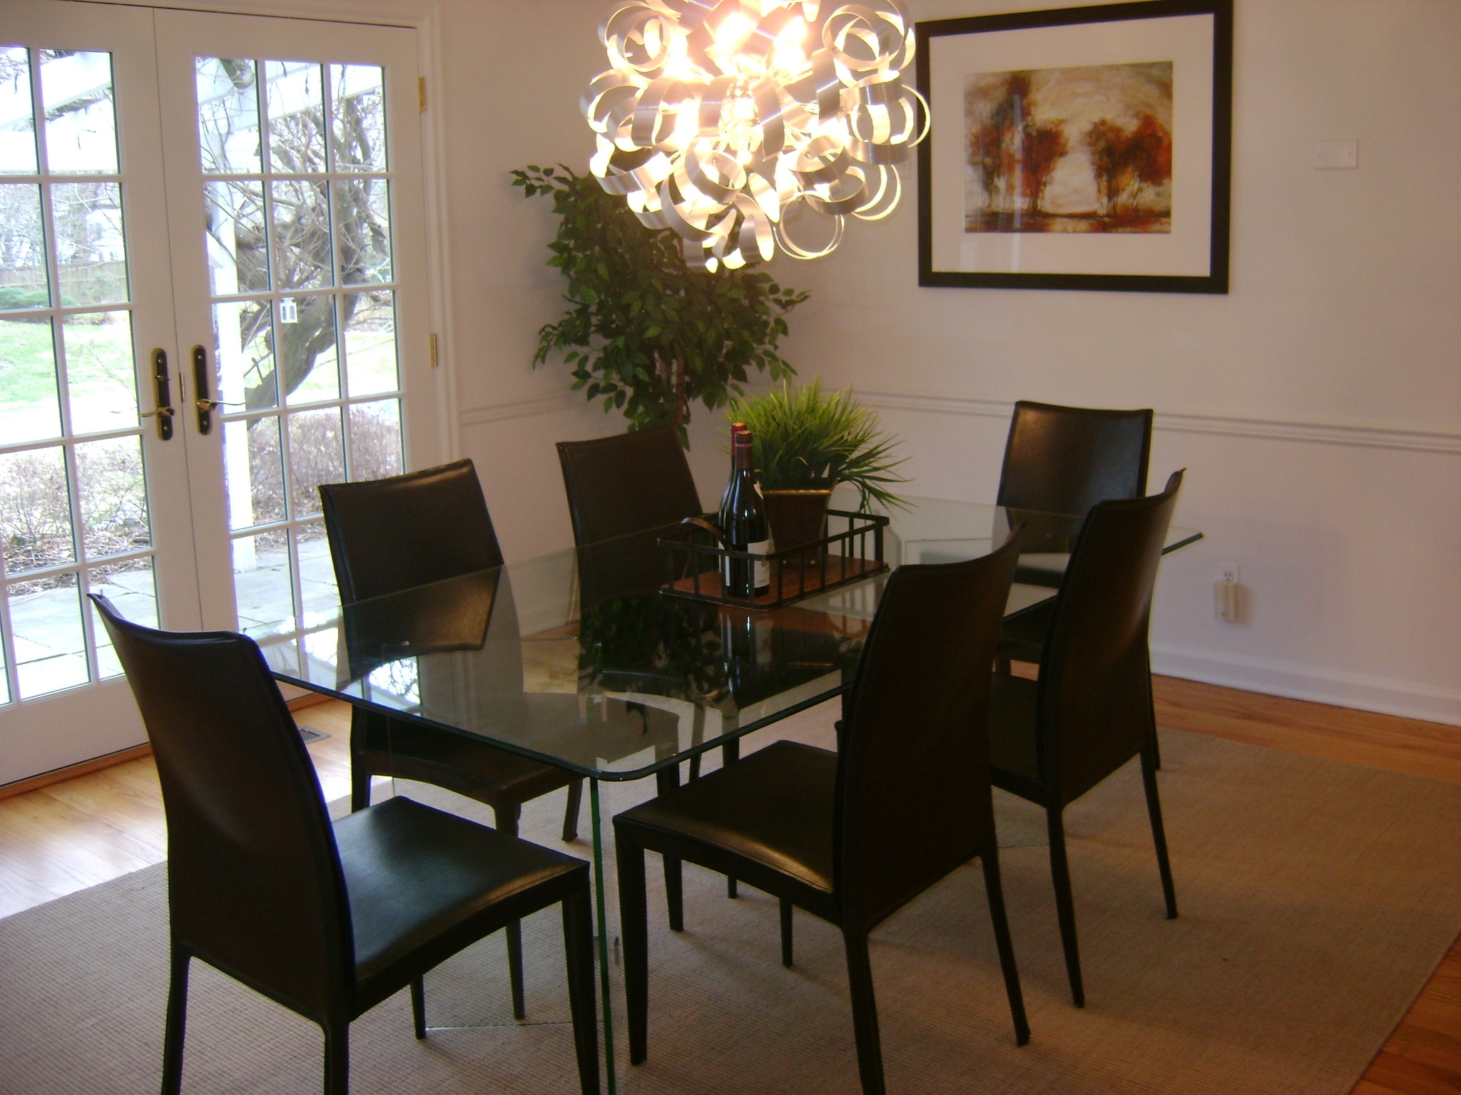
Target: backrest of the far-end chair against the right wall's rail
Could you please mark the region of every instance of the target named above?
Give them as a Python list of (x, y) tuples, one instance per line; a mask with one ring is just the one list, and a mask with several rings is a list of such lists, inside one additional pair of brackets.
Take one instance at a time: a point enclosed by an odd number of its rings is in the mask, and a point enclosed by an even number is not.
[(1014, 404), (996, 502), (1084, 515), (1106, 498), (1141, 498), (1151, 454), (1150, 410)]

